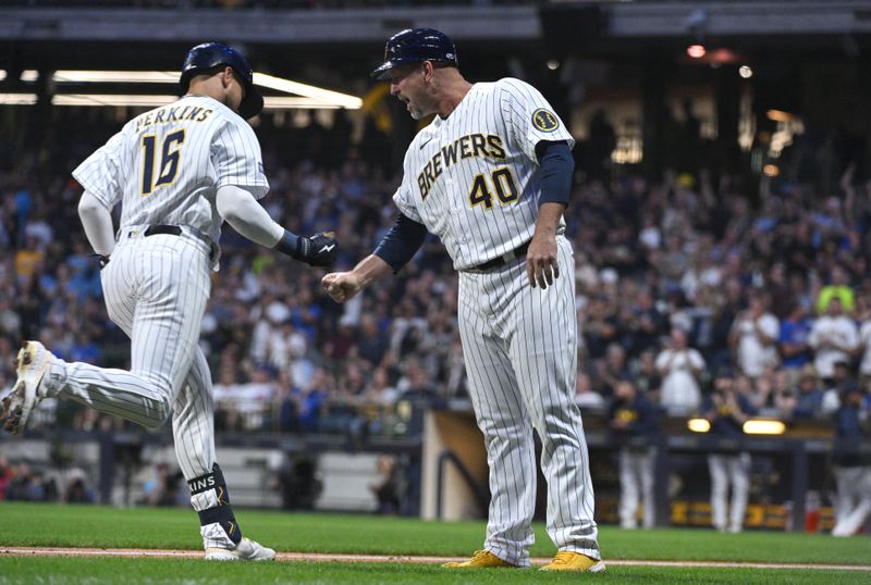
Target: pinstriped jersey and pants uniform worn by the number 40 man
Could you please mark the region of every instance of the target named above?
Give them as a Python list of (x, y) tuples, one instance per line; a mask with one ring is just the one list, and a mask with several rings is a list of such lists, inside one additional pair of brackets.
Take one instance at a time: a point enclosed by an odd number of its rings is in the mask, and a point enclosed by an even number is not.
[[(541, 191), (538, 142), (571, 134), (541, 94), (518, 79), (473, 85), (446, 119), (408, 147), (393, 196), (438, 235), (459, 271), (458, 327), (469, 397), (490, 465), (483, 548), (529, 565), (536, 453), (548, 481), (548, 534), (560, 550), (599, 559), (587, 441), (574, 401), (575, 263), (557, 228), (560, 277), (531, 287), (526, 262), (467, 270), (528, 242)], [(563, 227), (565, 224), (561, 220)]]

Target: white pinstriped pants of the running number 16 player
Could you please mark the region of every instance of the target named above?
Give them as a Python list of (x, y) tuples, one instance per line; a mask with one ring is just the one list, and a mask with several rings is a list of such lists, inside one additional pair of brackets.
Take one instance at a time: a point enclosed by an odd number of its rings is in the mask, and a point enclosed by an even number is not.
[(100, 277), (109, 316), (132, 341), (131, 370), (62, 363), (62, 398), (146, 427), (160, 426), (172, 410), (186, 480), (210, 473), (216, 458), (211, 374), (197, 345), (210, 273), (205, 242), (123, 229)]

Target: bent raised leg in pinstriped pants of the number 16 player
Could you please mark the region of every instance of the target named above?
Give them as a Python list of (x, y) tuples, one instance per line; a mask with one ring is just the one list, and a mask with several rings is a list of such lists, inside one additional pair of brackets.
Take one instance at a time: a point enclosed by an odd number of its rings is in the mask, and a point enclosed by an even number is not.
[[(161, 237), (167, 241), (151, 241)], [(56, 360), (58, 396), (160, 426), (191, 370), (209, 295), (208, 270), (203, 250), (180, 237), (119, 245), (101, 276), (109, 316), (132, 339), (131, 370)]]

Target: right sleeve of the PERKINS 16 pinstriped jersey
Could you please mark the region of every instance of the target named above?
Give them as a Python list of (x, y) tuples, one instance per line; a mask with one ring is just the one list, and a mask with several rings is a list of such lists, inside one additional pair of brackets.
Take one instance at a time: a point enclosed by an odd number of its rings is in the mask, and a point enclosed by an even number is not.
[(241, 187), (261, 199), (269, 191), (263, 155), (254, 129), (242, 119), (228, 120), (212, 140), (212, 164), (218, 175), (216, 188)]

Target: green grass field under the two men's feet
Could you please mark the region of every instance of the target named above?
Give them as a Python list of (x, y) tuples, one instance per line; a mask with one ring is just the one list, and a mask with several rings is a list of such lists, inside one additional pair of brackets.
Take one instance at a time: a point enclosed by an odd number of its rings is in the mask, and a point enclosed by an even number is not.
[[(480, 548), (482, 522), (422, 522), (349, 514), (241, 510), (244, 534), (283, 552), (466, 556)], [(0, 546), (97, 548), (200, 547), (196, 514), (183, 509), (0, 503)], [(672, 528), (600, 533), (605, 561), (738, 561), (871, 567), (871, 538)], [(536, 525), (533, 557), (554, 547)], [(0, 583), (549, 583), (597, 578), (612, 583), (871, 583), (871, 572), (819, 569), (611, 565), (599, 575), (539, 571), (449, 571), (405, 563), (205, 563), (194, 559), (45, 558), (0, 556)]]

